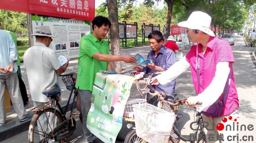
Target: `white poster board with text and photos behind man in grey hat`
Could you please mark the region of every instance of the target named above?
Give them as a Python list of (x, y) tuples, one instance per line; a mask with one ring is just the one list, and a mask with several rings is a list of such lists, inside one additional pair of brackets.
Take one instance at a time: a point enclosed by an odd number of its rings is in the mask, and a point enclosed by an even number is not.
[[(65, 56), (68, 59), (79, 56), (79, 42), (81, 37), (90, 32), (90, 22), (84, 20), (65, 19), (32, 14), (32, 33), (35, 33), (39, 25), (49, 26), (53, 41), (49, 48), (54, 50), (57, 56)], [(32, 39), (35, 42), (35, 36)]]

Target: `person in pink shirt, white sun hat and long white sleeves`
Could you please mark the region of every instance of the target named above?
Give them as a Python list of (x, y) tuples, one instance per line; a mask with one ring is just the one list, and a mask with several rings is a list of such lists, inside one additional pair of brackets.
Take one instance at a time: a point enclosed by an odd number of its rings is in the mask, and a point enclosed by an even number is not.
[[(209, 29), (211, 17), (207, 13), (192, 12), (187, 21), (178, 25), (188, 28), (191, 41), (198, 44), (193, 45), (179, 62), (152, 79), (151, 83), (167, 84), (190, 66), (197, 96), (189, 97), (186, 104), (196, 106), (197, 110), (202, 112), (203, 121), (209, 123), (209, 127), (216, 127), (218, 123), (223, 123), (224, 126), (233, 125), (234, 121), (238, 122), (239, 119), (239, 103), (232, 67), (234, 57), (229, 43), (216, 38)], [(199, 101), (202, 105), (196, 105)], [(217, 108), (216, 103), (223, 107)], [(236, 136), (238, 131), (217, 128), (210, 131), (205, 128), (205, 133), (207, 143), (237, 142), (230, 141), (228, 136)], [(210, 135), (214, 138), (210, 138)], [(223, 135), (223, 140), (219, 140), (218, 135)]]

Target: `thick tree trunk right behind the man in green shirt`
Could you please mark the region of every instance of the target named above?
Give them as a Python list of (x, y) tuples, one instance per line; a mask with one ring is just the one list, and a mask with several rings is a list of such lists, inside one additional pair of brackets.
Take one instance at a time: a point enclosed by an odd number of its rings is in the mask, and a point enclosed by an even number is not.
[[(111, 54), (121, 55), (119, 42), (119, 26), (118, 26), (118, 12), (116, 0), (107, 0), (108, 19), (111, 22), (110, 39), (111, 39)], [(116, 72), (122, 71), (121, 61), (113, 62), (112, 68)]]

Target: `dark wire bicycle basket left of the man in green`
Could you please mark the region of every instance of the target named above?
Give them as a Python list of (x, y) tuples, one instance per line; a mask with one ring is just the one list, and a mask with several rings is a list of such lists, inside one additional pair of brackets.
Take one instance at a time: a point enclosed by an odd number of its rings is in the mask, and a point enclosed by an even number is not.
[(72, 72), (72, 73), (68, 73), (66, 75), (61, 75), (61, 76), (62, 76), (61, 79), (64, 82), (67, 90), (72, 90), (72, 87), (73, 87), (74, 83), (76, 82), (77, 71)]

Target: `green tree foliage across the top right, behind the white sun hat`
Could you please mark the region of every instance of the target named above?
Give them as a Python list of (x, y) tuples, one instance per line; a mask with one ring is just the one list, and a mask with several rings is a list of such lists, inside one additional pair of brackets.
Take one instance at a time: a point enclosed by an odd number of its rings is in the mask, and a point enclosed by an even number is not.
[[(117, 0), (119, 22), (138, 22), (139, 29), (142, 23), (160, 24), (162, 27), (169, 23), (176, 25), (186, 20), (192, 12), (202, 11), (212, 17), (212, 27), (219, 27), (222, 32), (242, 31), (245, 22), (248, 21), (248, 7), (256, 4), (255, 0), (164, 0), (165, 6), (159, 9), (155, 4), (160, 0), (144, 0), (143, 4), (135, 6), (137, 1)], [(172, 11), (168, 10), (168, 3), (173, 6)], [(106, 14), (104, 4), (96, 8), (96, 13)]]

